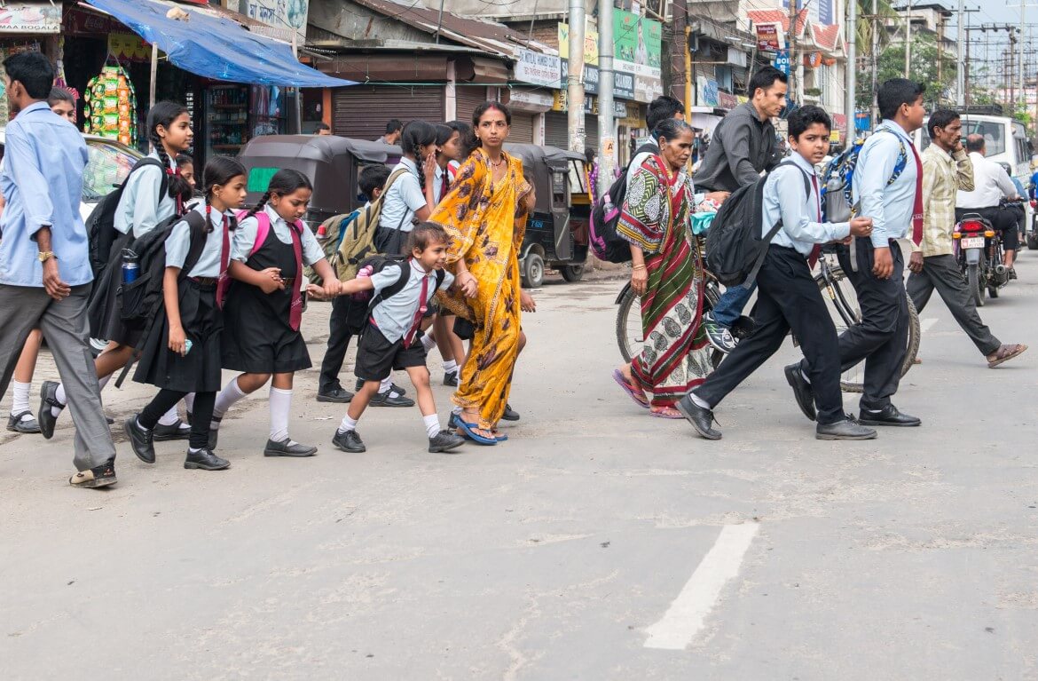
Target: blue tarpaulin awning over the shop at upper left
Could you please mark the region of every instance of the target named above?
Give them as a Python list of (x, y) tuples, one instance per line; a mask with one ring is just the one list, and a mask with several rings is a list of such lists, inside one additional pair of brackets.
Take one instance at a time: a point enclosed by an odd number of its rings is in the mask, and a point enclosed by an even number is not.
[[(302, 64), (292, 48), (245, 30), (241, 24), (213, 17), (190, 5), (154, 0), (85, 0), (159, 46), (184, 71), (214, 80), (282, 87), (340, 87), (354, 81), (332, 78)], [(187, 20), (166, 16), (172, 7)]]

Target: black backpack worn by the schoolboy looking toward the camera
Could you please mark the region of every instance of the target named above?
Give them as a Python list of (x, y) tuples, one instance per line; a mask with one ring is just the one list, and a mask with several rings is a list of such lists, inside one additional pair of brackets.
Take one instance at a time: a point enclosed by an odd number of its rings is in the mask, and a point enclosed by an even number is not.
[[(778, 167), (784, 165), (791, 165), (803, 174), (803, 188), (808, 196), (811, 196), (811, 179), (808, 173), (792, 161), (784, 161)], [(765, 175), (752, 185), (735, 190), (721, 205), (707, 230), (706, 266), (726, 287), (753, 288), (757, 273), (764, 264), (768, 244), (782, 229), (780, 218), (761, 237), (764, 183), (767, 179)]]

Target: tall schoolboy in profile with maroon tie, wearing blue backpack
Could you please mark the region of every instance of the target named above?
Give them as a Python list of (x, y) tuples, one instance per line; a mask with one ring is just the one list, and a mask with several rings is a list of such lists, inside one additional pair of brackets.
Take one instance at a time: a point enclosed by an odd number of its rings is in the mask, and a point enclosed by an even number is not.
[[(923, 127), (926, 85), (904, 78), (883, 83), (877, 94), (883, 121), (865, 141), (851, 180), (852, 206), (872, 218), (872, 236), (840, 248), (840, 267), (854, 287), (862, 321), (840, 336), (840, 362), (846, 371), (865, 360), (865, 391), (858, 423), (864, 426), (919, 426), (891, 402), (901, 382), (908, 346), (908, 297), (904, 256), (898, 239), (923, 240), (923, 162), (911, 135)], [(885, 134), (880, 134), (885, 133)], [(898, 174), (895, 168), (904, 165)], [(894, 179), (896, 175), (896, 179)], [(892, 180), (893, 179), (893, 180)], [(811, 361), (787, 372), (804, 414), (810, 405)]]

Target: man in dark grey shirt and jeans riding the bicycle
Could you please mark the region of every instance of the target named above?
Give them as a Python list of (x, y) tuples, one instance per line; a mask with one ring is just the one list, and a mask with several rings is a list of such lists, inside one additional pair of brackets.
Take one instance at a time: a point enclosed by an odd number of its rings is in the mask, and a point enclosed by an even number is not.
[[(703, 165), (695, 173), (700, 191), (734, 192), (750, 185), (782, 161), (771, 118), (782, 113), (788, 90), (786, 74), (765, 66), (749, 81), (750, 99), (732, 109), (714, 129)], [(703, 317), (710, 344), (723, 353), (735, 349), (730, 331), (753, 290), (734, 287)]]

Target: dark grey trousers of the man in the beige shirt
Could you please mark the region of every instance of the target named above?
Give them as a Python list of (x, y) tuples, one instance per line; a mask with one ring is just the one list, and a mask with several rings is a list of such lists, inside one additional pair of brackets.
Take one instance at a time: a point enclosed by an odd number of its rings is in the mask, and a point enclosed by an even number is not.
[(969, 294), (966, 280), (954, 255), (931, 255), (923, 258), (923, 271), (912, 272), (905, 283), (908, 296), (916, 309), (923, 311), (934, 290), (948, 305), (952, 317), (958, 322), (982, 355), (990, 355), (1002, 346), (1002, 342), (991, 334), (991, 329), (981, 321)]

